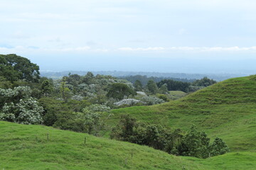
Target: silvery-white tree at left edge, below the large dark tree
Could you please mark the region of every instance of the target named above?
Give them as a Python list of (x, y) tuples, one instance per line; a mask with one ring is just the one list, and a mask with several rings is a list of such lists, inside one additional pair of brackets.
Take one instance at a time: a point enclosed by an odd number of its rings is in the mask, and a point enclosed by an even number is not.
[(22, 124), (38, 124), (43, 121), (43, 107), (31, 97), (31, 88), (18, 86), (14, 89), (0, 89), (0, 120)]

